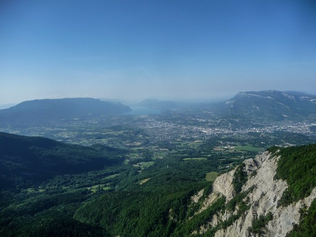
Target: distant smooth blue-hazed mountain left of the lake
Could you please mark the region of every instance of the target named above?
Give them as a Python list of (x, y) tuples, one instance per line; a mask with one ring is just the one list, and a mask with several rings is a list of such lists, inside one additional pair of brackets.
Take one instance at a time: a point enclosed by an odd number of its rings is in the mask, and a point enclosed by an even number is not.
[(121, 103), (93, 98), (37, 99), (0, 110), (0, 123), (34, 124), (50, 120), (122, 114), (128, 111), (130, 108)]

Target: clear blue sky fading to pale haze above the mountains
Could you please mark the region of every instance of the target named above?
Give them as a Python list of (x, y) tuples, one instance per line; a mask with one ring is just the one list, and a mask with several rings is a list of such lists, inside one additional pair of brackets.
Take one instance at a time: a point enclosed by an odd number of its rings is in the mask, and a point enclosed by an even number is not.
[(0, 1), (0, 104), (316, 92), (315, 1)]

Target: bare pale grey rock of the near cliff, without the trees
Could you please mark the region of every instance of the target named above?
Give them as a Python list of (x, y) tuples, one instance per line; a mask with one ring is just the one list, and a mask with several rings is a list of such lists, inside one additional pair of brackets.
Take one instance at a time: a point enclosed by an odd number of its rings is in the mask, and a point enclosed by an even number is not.
[[(291, 231), (293, 225), (299, 223), (301, 208), (308, 208), (316, 197), (316, 188), (312, 190), (310, 196), (288, 206), (278, 207), (278, 200), (287, 188), (285, 180), (274, 180), (278, 159), (278, 156), (273, 156), (267, 151), (257, 155), (255, 159), (244, 161), (243, 171), (247, 173), (248, 180), (242, 187), (242, 193), (246, 194), (243, 201), (250, 208), (240, 214), (239, 209), (241, 207), (236, 204), (234, 210), (225, 210), (225, 212), (214, 215), (212, 220), (202, 225), (195, 233), (202, 234), (210, 228), (217, 228), (216, 237), (259, 236), (249, 229), (252, 227), (253, 220), (257, 220), (260, 216), (267, 216), (269, 213), (273, 217), (266, 223), (260, 236), (281, 237)], [(232, 181), (235, 171), (236, 168), (217, 177), (213, 185), (213, 192), (204, 200), (199, 212), (203, 212), (222, 195), (226, 197), (226, 204), (234, 198)], [(196, 199), (195, 201), (197, 201)], [(228, 222), (228, 220), (233, 221)], [(225, 221), (228, 224), (223, 225)]]

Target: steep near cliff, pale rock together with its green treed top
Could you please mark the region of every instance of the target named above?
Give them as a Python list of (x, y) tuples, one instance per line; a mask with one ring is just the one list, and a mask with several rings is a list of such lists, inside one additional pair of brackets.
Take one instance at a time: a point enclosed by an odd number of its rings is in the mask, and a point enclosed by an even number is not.
[(212, 208), (221, 196), (226, 197), (225, 206), (192, 234), (286, 236), (316, 198), (315, 148), (273, 148), (218, 176), (197, 213)]

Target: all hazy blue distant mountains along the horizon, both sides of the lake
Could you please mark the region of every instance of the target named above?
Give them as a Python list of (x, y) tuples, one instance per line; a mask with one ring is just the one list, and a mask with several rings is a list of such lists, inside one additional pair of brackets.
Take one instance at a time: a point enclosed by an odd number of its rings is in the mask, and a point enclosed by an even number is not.
[[(219, 117), (269, 121), (316, 117), (316, 95), (275, 90), (240, 92), (231, 99), (212, 104), (147, 99), (140, 106), (160, 111), (199, 108), (212, 111)], [(93, 98), (30, 100), (0, 110), (0, 124), (38, 124), (119, 115), (129, 111), (128, 106), (119, 102)]]

